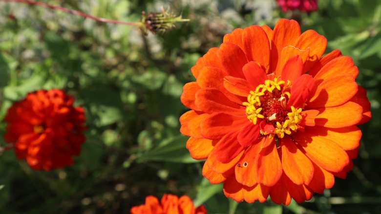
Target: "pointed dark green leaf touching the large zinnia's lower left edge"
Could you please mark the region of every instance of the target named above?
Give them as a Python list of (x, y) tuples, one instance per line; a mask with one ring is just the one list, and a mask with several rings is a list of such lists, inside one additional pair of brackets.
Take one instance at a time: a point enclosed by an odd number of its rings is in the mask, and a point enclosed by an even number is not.
[(136, 161), (168, 161), (176, 163), (195, 163), (199, 162), (191, 158), (189, 151), (185, 147), (189, 137), (178, 135), (162, 141), (159, 147), (148, 151), (136, 159)]

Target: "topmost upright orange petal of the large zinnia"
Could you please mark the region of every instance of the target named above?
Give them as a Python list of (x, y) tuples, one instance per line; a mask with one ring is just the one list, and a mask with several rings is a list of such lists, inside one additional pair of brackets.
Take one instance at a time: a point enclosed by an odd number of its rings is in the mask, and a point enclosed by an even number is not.
[(270, 71), (274, 71), (276, 76), (280, 75), (280, 56), (282, 49), (293, 45), (300, 36), (299, 24), (294, 20), (279, 20), (273, 31), (271, 39), (271, 66)]

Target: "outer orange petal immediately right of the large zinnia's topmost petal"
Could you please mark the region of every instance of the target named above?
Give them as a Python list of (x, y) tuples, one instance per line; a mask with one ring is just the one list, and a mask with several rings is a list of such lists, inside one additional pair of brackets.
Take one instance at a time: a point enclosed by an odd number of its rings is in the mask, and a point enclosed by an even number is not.
[(303, 61), (303, 73), (306, 73), (319, 61), (321, 56), (323, 56), (325, 48), (327, 47), (327, 39), (314, 30), (307, 30), (300, 35), (294, 46), (301, 50), (310, 50), (307, 62)]

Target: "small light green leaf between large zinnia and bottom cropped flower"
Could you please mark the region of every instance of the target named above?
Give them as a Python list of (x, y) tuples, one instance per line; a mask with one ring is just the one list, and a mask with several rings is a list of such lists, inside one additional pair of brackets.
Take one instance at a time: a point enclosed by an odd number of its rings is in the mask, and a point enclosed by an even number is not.
[(216, 193), (222, 192), (222, 183), (221, 184), (211, 184), (208, 179), (205, 177), (202, 179), (200, 184), (200, 189), (197, 192), (196, 198), (193, 200), (194, 206), (198, 207), (206, 202)]

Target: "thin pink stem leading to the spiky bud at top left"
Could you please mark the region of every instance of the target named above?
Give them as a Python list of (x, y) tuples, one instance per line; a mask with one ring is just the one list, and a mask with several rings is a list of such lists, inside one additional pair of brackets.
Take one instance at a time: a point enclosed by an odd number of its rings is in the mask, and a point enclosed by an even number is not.
[(141, 22), (117, 21), (117, 20), (109, 20), (109, 19), (94, 17), (94, 16), (91, 16), (91, 15), (82, 13), (80, 11), (70, 10), (70, 9), (67, 9), (67, 8), (64, 8), (64, 7), (54, 6), (54, 5), (50, 5), (50, 4), (47, 4), (47, 3), (44, 3), (44, 2), (40, 2), (40, 1), (31, 1), (31, 0), (0, 0), (0, 1), (20, 2), (20, 3), (40, 5), (40, 6), (48, 7), (48, 8), (54, 9), (54, 10), (61, 10), (61, 11), (66, 12), (66, 13), (80, 15), (80, 16), (83, 16), (85, 18), (89, 18), (89, 19), (92, 19), (92, 20), (95, 20), (95, 21), (102, 21), (102, 22), (115, 23), (115, 24), (136, 25), (136, 26), (141, 26), (142, 25)]

